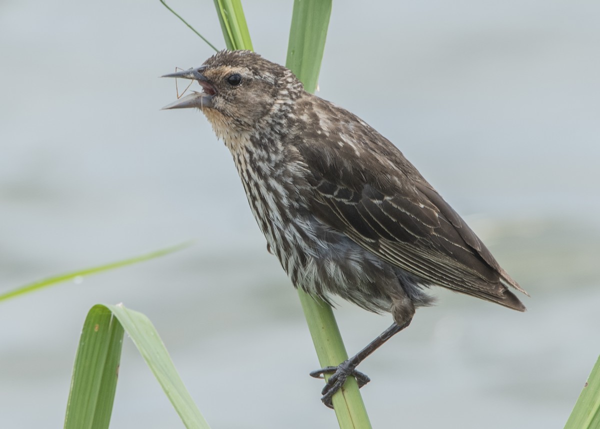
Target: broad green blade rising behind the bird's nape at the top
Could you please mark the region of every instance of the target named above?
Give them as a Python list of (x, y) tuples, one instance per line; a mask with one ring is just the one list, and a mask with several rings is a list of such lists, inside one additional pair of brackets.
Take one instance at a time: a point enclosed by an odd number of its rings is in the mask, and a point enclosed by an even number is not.
[(295, 0), (286, 67), (314, 93), (325, 50), (331, 0)]

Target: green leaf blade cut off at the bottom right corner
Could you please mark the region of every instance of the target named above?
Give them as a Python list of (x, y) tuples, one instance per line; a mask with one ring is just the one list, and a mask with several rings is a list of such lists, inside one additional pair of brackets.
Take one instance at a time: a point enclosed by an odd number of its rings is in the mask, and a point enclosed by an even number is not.
[(600, 428), (600, 357), (592, 369), (565, 429)]

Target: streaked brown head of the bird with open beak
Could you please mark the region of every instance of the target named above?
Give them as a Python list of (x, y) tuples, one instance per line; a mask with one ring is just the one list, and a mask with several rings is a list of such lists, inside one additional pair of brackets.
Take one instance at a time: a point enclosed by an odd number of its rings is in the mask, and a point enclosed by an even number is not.
[(221, 50), (200, 67), (164, 78), (193, 79), (202, 87), (163, 109), (199, 108), (209, 121), (250, 130), (302, 92), (287, 68), (249, 50)]

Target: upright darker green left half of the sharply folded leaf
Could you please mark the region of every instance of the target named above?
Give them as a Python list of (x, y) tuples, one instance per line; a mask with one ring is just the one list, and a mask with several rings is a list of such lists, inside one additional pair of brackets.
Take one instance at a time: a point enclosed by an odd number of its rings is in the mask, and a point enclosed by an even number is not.
[(121, 359), (123, 327), (103, 305), (83, 324), (73, 365), (65, 429), (109, 427)]

